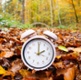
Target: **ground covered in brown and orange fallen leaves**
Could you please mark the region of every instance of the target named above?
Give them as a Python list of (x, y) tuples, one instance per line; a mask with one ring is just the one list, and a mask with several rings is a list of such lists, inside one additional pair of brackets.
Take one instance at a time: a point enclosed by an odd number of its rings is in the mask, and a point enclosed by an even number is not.
[[(43, 35), (46, 28), (34, 28)], [(44, 71), (28, 69), (21, 60), (21, 48), (28, 39), (20, 39), (25, 30), (10, 28), (0, 30), (0, 80), (81, 80), (81, 32), (49, 29), (58, 36), (53, 42), (57, 56)]]

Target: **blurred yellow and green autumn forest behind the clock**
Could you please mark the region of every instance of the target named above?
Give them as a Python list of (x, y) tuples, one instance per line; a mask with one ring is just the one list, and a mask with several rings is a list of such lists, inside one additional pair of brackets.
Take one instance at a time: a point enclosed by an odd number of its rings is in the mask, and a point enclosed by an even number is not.
[(81, 0), (0, 0), (0, 27), (27, 28), (36, 22), (50, 27), (80, 27)]

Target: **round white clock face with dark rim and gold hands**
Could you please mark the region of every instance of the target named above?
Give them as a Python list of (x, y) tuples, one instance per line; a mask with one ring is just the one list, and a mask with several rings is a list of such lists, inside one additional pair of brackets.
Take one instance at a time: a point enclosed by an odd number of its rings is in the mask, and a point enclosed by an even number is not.
[(53, 62), (54, 49), (47, 40), (34, 38), (24, 45), (22, 58), (30, 69), (42, 70)]

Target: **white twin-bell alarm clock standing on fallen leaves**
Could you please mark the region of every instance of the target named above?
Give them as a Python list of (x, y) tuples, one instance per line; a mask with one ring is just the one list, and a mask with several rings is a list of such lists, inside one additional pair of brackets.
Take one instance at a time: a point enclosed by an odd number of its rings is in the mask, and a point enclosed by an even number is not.
[(37, 35), (34, 30), (26, 30), (21, 35), (21, 39), (29, 37), (23, 44), (21, 50), (21, 59), (29, 69), (36, 71), (45, 70), (49, 68), (55, 60), (55, 45), (47, 37), (57, 40), (57, 36), (48, 30), (44, 31), (43, 34), (44, 35)]

